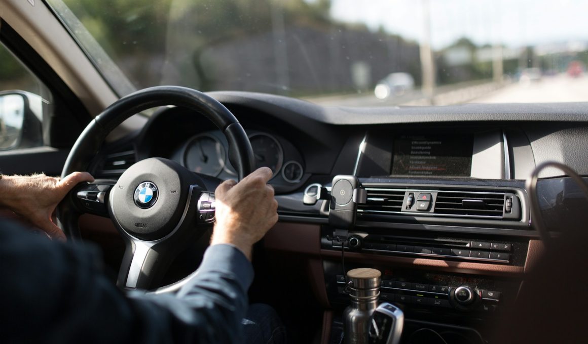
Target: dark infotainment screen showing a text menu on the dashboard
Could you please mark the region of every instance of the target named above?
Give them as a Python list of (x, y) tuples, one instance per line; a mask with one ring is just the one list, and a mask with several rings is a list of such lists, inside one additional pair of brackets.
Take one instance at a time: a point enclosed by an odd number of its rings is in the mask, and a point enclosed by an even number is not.
[(392, 176), (470, 177), (473, 135), (398, 136)]

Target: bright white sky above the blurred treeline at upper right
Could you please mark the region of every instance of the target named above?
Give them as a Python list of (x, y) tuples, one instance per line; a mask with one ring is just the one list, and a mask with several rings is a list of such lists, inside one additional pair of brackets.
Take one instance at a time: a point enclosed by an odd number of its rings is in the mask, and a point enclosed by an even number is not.
[[(428, 0), (431, 43), (441, 49), (464, 36), (478, 44), (525, 45), (588, 41), (588, 0)], [(332, 0), (342, 22), (383, 26), (421, 41), (427, 0)]]

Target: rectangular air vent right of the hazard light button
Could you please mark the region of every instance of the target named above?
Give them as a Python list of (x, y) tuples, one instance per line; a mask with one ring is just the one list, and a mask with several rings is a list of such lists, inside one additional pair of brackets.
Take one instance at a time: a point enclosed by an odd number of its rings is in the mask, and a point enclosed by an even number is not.
[(439, 191), (435, 214), (459, 217), (502, 218), (505, 193)]

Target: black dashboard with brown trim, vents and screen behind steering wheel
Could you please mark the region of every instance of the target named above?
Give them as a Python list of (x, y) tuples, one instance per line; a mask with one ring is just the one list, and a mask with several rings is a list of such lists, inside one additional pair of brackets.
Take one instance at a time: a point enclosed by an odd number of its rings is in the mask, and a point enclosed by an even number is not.
[[(280, 295), (306, 290), (328, 310), (325, 343), (340, 338), (349, 303), (342, 252), (346, 270), (382, 271), (380, 299), (405, 310), (415, 321), (408, 328), (417, 330), (418, 321), (462, 326), (476, 333), (469, 343), (483, 342), (541, 249), (524, 180), (548, 160), (588, 174), (588, 152), (577, 149), (588, 144), (582, 104), (352, 109), (258, 93), (211, 95), (245, 128), (257, 166), (273, 171), (280, 221), (263, 241), (264, 264)], [(159, 109), (141, 131), (109, 143), (93, 173), (116, 177), (148, 157), (170, 158), (211, 180), (236, 178), (220, 131), (178, 107)], [(366, 190), (343, 243), (329, 224), (333, 200), (315, 197), (340, 174), (358, 177)], [(553, 169), (540, 178), (550, 231), (586, 223), (582, 193), (569, 178)], [(460, 302), (460, 287), (475, 302)]]

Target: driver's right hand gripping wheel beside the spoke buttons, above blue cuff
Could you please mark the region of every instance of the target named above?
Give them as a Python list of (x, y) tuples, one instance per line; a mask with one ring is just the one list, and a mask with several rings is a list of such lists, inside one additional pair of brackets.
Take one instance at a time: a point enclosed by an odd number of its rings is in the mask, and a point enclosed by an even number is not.
[(278, 222), (268, 167), (258, 168), (239, 183), (227, 180), (216, 188), (216, 224), (211, 245), (232, 244), (251, 259), (251, 248)]

